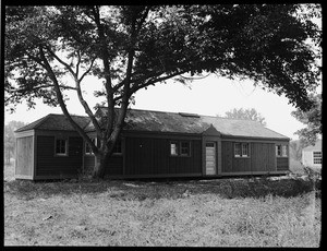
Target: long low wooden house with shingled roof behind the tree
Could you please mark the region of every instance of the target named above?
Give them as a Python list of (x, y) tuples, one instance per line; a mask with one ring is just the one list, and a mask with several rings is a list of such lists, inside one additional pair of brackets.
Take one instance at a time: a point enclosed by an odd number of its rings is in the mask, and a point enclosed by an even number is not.
[[(107, 109), (96, 113), (104, 124)], [(73, 120), (97, 144), (88, 117)], [(129, 109), (106, 167), (110, 178), (282, 175), (289, 170), (290, 139), (259, 122)], [(63, 115), (48, 115), (16, 130), (17, 179), (76, 177), (95, 165), (90, 147)]]

